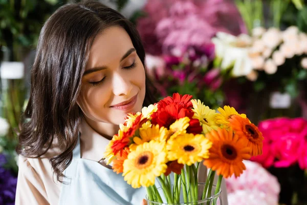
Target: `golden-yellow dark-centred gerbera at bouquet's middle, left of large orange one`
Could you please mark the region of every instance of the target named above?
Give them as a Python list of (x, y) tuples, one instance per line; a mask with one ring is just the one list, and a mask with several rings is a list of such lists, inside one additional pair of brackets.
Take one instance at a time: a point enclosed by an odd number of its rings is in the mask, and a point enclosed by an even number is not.
[(192, 165), (209, 157), (212, 143), (203, 134), (181, 134), (167, 141), (166, 150), (169, 161)]

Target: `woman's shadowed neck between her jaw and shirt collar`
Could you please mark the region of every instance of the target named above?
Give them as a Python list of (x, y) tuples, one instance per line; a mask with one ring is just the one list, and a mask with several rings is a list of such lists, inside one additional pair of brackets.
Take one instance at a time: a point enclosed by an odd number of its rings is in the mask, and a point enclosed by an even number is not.
[(118, 133), (119, 125), (114, 125), (111, 123), (98, 122), (92, 119), (85, 117), (87, 124), (101, 136), (112, 139), (112, 137)]

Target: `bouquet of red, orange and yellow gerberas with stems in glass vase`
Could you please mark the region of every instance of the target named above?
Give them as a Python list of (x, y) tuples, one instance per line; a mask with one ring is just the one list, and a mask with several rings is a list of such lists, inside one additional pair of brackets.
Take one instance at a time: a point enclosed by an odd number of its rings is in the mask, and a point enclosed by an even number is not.
[[(114, 171), (133, 188), (146, 187), (149, 204), (222, 204), (222, 178), (239, 176), (243, 159), (262, 153), (262, 134), (245, 114), (229, 106), (216, 113), (191, 98), (174, 93), (128, 114), (107, 147)], [(202, 161), (210, 168), (206, 183), (198, 180)]]

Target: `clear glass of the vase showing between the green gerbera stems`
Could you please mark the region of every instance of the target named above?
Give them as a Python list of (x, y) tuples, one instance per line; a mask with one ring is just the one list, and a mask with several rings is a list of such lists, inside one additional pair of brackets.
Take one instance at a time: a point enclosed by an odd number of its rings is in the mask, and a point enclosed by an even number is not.
[[(222, 191), (220, 190), (219, 192), (217, 192), (217, 194), (215, 194), (215, 189), (216, 186), (213, 185), (212, 189), (211, 189), (211, 194), (210, 197), (204, 198), (202, 199), (202, 194), (204, 192), (204, 189), (206, 187), (206, 183), (198, 183), (198, 197), (196, 201), (187, 201), (184, 202), (184, 197), (183, 197), (183, 187), (181, 187), (180, 190), (180, 201), (176, 202), (176, 203), (167, 203), (166, 198), (165, 198), (165, 194), (164, 194), (164, 190), (160, 187), (158, 188), (158, 192), (163, 200), (163, 202), (157, 202), (157, 200), (155, 200), (155, 193), (153, 193), (153, 198), (154, 200), (149, 200), (149, 196), (146, 195), (146, 201), (148, 205), (223, 205), (223, 201), (222, 201)], [(171, 185), (171, 190), (173, 191), (173, 185)], [(187, 191), (187, 194), (189, 195), (189, 191)]]

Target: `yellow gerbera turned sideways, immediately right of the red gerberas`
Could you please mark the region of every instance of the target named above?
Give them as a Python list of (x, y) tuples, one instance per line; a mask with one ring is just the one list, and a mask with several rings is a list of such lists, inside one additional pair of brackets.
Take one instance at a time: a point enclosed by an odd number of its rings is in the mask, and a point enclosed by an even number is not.
[(211, 130), (217, 130), (218, 125), (215, 121), (215, 110), (211, 110), (208, 106), (205, 106), (201, 100), (192, 99), (193, 105), (193, 118), (199, 119), (203, 128), (203, 132), (206, 134)]

